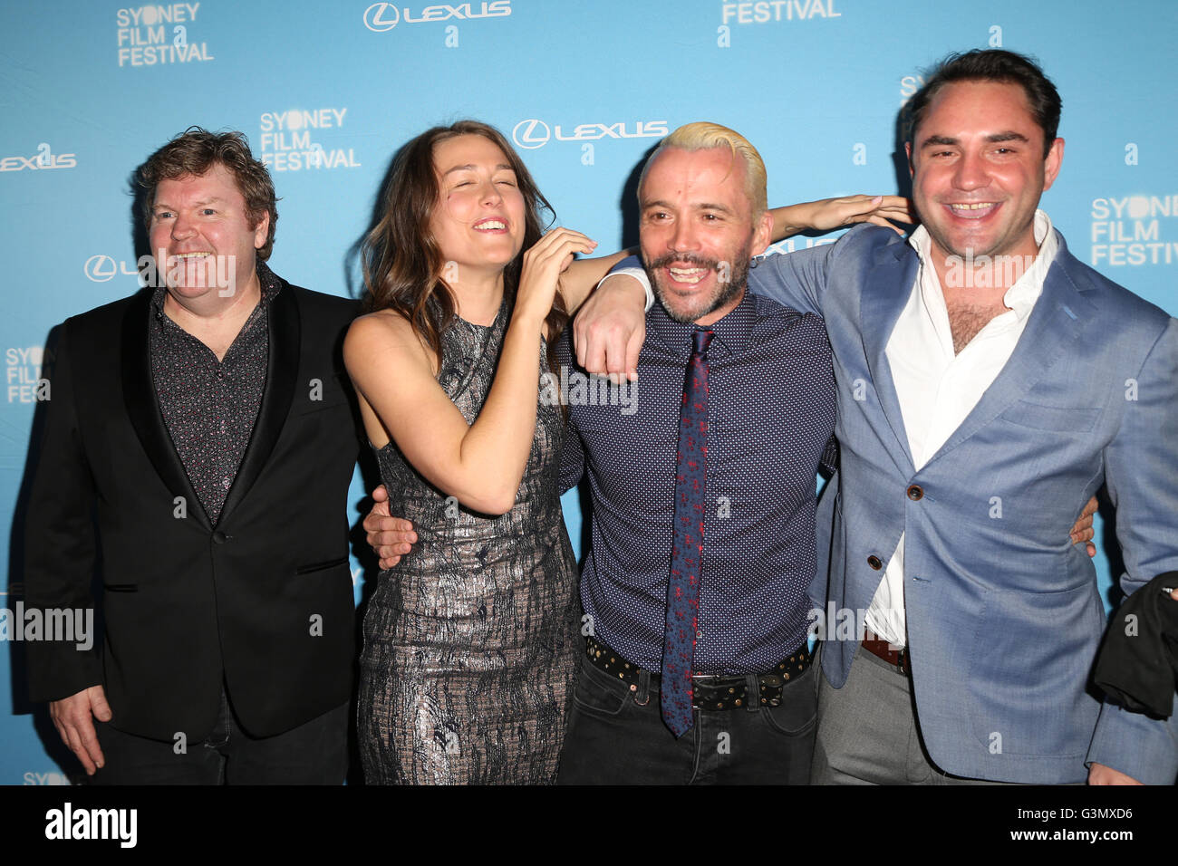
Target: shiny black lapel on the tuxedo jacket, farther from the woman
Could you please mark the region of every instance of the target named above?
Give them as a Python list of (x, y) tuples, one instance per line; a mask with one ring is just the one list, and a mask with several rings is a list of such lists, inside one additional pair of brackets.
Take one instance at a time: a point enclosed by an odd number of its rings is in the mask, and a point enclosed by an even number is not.
[(135, 295), (123, 316), (123, 402), (139, 443), (164, 484), (173, 496), (184, 497), (187, 513), (199, 520), (205, 529), (212, 529), (209, 515), (205, 514), (204, 505), (200, 504), (200, 498), (176, 452), (172, 437), (164, 424), (164, 416), (159, 411), (159, 401), (155, 398), (147, 341), (151, 296), (151, 289)]

